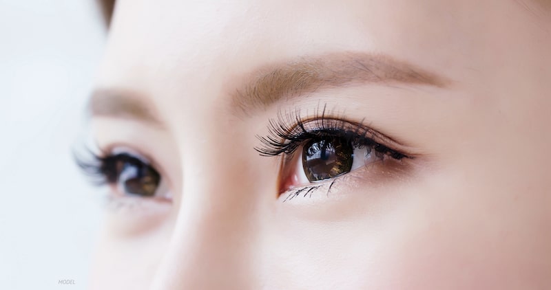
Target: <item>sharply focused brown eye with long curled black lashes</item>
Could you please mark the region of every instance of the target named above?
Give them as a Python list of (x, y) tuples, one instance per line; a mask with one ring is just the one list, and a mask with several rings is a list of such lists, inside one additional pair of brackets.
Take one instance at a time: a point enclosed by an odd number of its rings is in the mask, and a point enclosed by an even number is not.
[(269, 135), (259, 137), (260, 155), (282, 157), (279, 193), (288, 193), (284, 201), (322, 188), (329, 194), (335, 181), (362, 167), (390, 172), (413, 159), (395, 149), (404, 146), (363, 122), (326, 114), (325, 107), (318, 112), (306, 117), (298, 110), (280, 112), (269, 122)]

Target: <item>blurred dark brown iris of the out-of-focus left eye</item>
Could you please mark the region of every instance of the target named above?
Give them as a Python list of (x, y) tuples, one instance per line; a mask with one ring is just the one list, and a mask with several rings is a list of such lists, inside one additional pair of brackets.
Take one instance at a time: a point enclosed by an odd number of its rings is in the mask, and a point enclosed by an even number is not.
[(125, 194), (153, 197), (160, 183), (160, 175), (136, 158), (119, 161), (118, 188)]

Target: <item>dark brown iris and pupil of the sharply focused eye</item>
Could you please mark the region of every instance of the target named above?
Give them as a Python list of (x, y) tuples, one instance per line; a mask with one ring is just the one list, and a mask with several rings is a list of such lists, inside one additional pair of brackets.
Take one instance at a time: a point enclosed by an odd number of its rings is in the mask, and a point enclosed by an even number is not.
[(302, 167), (309, 181), (320, 181), (350, 172), (354, 148), (343, 138), (313, 140), (304, 146)]

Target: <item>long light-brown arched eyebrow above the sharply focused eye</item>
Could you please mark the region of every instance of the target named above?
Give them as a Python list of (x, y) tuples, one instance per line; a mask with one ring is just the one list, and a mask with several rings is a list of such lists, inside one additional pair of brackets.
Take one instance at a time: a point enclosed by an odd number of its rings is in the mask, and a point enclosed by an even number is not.
[(266, 109), (275, 102), (335, 87), (398, 83), (446, 87), (450, 80), (383, 54), (333, 53), (264, 67), (233, 94), (238, 114)]

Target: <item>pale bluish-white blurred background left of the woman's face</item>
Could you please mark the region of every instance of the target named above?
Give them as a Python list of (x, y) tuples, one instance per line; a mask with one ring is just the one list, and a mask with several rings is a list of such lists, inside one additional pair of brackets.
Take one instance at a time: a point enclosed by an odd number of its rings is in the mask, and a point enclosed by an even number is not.
[(104, 42), (92, 0), (0, 0), (0, 289), (87, 287), (100, 193), (71, 150)]

